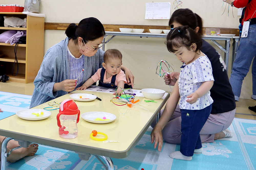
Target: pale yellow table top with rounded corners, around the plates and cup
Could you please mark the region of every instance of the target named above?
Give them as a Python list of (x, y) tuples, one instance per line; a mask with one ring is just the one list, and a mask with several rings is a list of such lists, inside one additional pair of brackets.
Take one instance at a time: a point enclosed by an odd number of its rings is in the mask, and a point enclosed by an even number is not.
[[(155, 100), (157, 103), (145, 103), (144, 100), (148, 99), (135, 96), (135, 100), (141, 100), (136, 104), (149, 104), (149, 106), (142, 107), (150, 110), (150, 112), (137, 106), (132, 106), (132, 108), (127, 107), (127, 105), (116, 106), (110, 102), (114, 96), (109, 93), (74, 91), (52, 101), (60, 103), (64, 99), (70, 98), (70, 94), (76, 93), (94, 94), (102, 99), (102, 101), (97, 99), (88, 102), (76, 101), (80, 110), (80, 120), (77, 124), (77, 138), (64, 139), (59, 136), (56, 119), (59, 110), (50, 111), (50, 117), (39, 121), (23, 120), (17, 115), (7, 117), (0, 121), (0, 135), (72, 151), (108, 156), (111, 158), (125, 158), (130, 154), (130, 149), (135, 147), (136, 143), (143, 136), (169, 98), (169, 94), (167, 94), (165, 99)], [(41, 104), (35, 108), (43, 109), (45, 107), (47, 107), (45, 104)], [(116, 115), (116, 120), (106, 124), (95, 124), (83, 120), (81, 115), (91, 111), (112, 113)], [(108, 140), (117, 140), (120, 143), (95, 141), (90, 138), (92, 130), (103, 132), (108, 135)]]

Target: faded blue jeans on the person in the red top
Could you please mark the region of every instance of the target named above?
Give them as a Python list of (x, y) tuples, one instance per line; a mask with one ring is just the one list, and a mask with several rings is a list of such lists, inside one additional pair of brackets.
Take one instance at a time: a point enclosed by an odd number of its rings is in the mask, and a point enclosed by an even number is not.
[[(236, 101), (239, 101), (244, 77), (252, 63), (252, 96), (256, 100), (256, 24), (250, 25), (246, 38), (240, 39), (236, 59), (233, 63), (229, 82), (232, 86)], [(253, 59), (254, 58), (254, 59)], [(252, 62), (253, 60), (253, 62)]]

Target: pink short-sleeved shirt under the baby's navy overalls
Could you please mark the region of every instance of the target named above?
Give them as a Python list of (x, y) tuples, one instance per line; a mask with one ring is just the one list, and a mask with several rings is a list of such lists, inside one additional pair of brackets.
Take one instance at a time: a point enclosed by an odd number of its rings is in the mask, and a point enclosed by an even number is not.
[[(91, 77), (94, 82), (97, 82), (98, 80), (100, 80), (101, 69), (102, 68), (98, 69), (97, 72)], [(103, 78), (103, 83), (111, 83), (112, 76), (107, 79), (106, 72), (107, 71), (105, 71), (104, 78)], [(125, 76), (125, 74), (122, 70), (120, 71), (120, 73), (116, 74), (116, 78), (115, 78), (115, 85), (116, 86), (118, 85), (119, 81), (124, 81), (124, 83), (127, 83), (126, 82), (126, 76)]]

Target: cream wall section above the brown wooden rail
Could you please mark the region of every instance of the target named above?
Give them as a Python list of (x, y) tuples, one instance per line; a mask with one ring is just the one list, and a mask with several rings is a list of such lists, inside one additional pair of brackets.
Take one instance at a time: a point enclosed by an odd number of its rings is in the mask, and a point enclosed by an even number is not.
[[(103, 24), (168, 25), (168, 20), (145, 20), (145, 3), (147, 0), (41, 0), (40, 12), (46, 14), (46, 22), (75, 22), (83, 18), (95, 17)], [(154, 0), (154, 2), (171, 2)], [(190, 8), (204, 20), (204, 27), (238, 28), (237, 8), (230, 8), (227, 18), (225, 5), (221, 0), (183, 0), (182, 8)], [(24, 0), (1, 0), (0, 4), (24, 5)], [(171, 14), (174, 9), (171, 8)]]

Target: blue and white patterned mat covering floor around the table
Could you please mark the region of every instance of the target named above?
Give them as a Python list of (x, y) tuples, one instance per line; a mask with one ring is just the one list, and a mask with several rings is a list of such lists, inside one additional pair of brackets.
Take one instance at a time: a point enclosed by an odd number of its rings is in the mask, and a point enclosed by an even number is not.
[[(27, 109), (31, 96), (0, 92), (0, 108), (6, 115)], [(125, 159), (112, 159), (115, 170), (229, 170), (256, 168), (256, 121), (235, 118), (229, 127), (233, 137), (222, 138), (214, 143), (203, 143), (203, 153), (194, 154), (192, 161), (173, 160), (169, 154), (178, 151), (180, 145), (164, 142), (161, 152), (151, 144), (148, 128), (131, 154)], [(39, 146), (35, 156), (25, 157), (16, 163), (7, 163), (9, 170), (105, 170), (104, 166), (91, 156), (89, 161), (81, 161), (72, 151)]]

